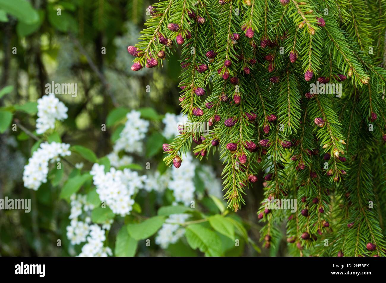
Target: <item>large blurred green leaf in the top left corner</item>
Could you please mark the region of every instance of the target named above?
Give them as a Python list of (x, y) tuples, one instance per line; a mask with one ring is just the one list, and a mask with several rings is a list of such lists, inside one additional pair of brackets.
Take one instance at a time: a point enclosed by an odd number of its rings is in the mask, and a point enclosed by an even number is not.
[(13, 15), (20, 22), (32, 24), (39, 20), (39, 15), (27, 0), (0, 0), (0, 9)]

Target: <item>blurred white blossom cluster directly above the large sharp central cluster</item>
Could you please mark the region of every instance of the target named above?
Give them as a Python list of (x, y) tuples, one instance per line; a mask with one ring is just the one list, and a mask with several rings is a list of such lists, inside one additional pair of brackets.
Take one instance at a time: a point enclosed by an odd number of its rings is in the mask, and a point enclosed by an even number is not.
[(126, 114), (125, 127), (119, 134), (119, 139), (114, 145), (114, 152), (142, 152), (142, 139), (144, 139), (149, 121), (141, 119), (139, 111), (132, 110)]

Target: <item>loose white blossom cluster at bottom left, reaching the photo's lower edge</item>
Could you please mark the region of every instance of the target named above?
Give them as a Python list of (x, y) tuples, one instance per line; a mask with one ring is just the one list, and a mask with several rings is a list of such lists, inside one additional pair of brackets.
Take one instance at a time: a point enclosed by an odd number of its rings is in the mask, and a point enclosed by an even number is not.
[[(103, 246), (106, 239), (106, 230), (110, 230), (113, 220), (107, 220), (103, 223), (102, 228), (97, 224), (91, 223), (90, 215), (94, 206), (86, 201), (86, 195), (71, 196), (71, 219), (70, 225), (66, 227), (67, 238), (71, 244), (81, 244), (87, 242), (82, 247), (82, 252), (79, 256), (107, 256), (112, 255), (112, 251), (108, 247)], [(81, 221), (79, 218), (84, 218)]]

